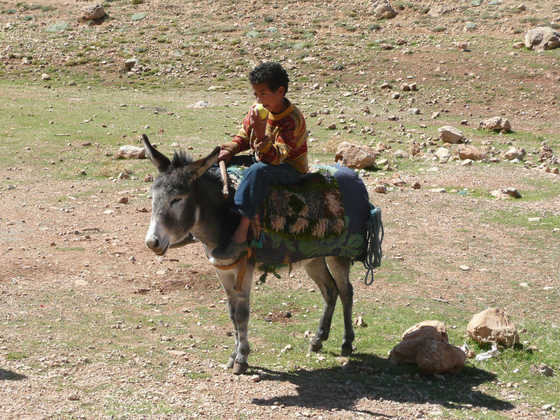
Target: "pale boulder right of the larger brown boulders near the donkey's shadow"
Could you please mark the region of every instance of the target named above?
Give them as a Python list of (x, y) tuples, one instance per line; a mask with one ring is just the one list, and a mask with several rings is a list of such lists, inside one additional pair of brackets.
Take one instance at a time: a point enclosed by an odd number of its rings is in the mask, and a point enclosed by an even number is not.
[(499, 308), (488, 308), (475, 314), (467, 325), (467, 334), (481, 344), (498, 343), (512, 347), (519, 343), (515, 324)]

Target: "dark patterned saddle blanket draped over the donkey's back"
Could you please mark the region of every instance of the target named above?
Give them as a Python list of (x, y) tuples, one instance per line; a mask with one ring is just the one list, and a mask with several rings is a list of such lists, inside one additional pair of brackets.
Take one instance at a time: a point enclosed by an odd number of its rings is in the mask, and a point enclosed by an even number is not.
[[(240, 180), (242, 170), (232, 169), (230, 179)], [(369, 216), (365, 185), (346, 167), (313, 170), (300, 183), (271, 187), (252, 221), (257, 261), (278, 265), (320, 256), (363, 257)]]

